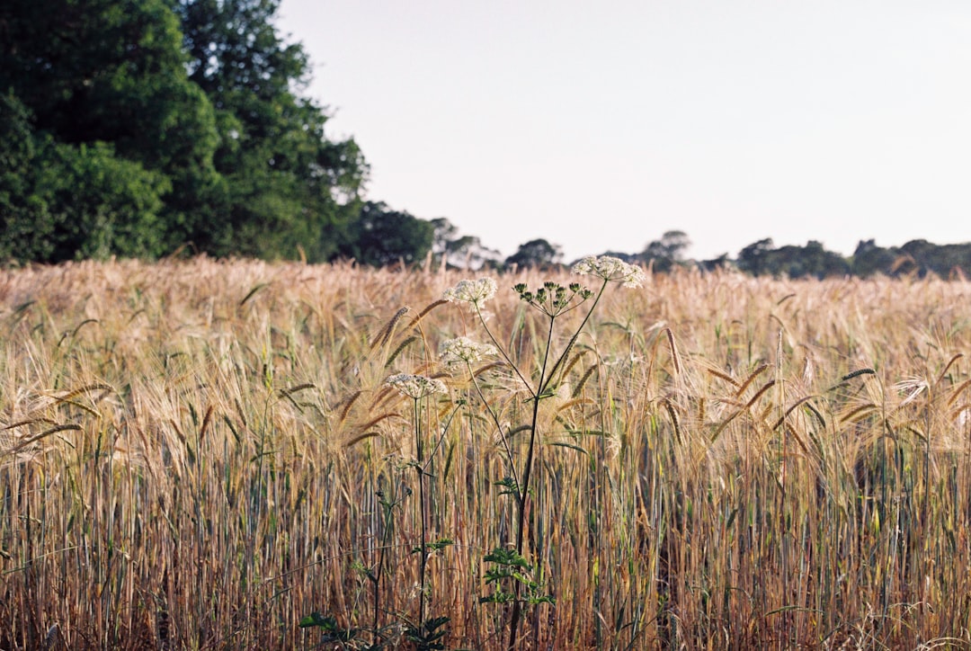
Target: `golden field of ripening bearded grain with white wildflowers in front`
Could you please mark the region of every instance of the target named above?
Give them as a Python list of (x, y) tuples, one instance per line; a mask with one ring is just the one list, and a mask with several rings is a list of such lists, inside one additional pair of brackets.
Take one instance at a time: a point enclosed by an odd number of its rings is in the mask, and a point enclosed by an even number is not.
[(477, 278), (0, 272), (0, 648), (971, 645), (971, 284)]

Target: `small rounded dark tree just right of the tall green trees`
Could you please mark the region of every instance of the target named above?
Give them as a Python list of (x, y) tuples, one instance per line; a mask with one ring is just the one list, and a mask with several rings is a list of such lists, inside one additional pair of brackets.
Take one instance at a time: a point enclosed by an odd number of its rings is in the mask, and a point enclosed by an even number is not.
[(435, 227), (384, 203), (368, 201), (351, 226), (352, 236), (340, 253), (361, 264), (384, 266), (398, 261), (414, 263), (431, 251)]

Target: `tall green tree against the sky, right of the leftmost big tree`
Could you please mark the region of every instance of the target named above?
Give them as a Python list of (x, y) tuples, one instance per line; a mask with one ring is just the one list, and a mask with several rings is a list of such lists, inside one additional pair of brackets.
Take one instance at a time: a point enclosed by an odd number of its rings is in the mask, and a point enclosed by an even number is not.
[(218, 203), (181, 236), (218, 255), (293, 257), (298, 247), (312, 261), (337, 255), (367, 165), (352, 140), (328, 140), (326, 113), (296, 94), (310, 61), (277, 32), (279, 0), (169, 2), (182, 17), (189, 79), (217, 110), (215, 161), (226, 180)]

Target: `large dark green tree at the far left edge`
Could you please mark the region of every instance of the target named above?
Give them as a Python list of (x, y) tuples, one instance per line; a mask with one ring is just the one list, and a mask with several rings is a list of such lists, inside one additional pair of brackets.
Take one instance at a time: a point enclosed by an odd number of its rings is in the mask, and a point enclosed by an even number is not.
[(4, 255), (159, 255), (175, 182), (215, 176), (215, 118), (185, 74), (178, 18), (162, 0), (2, 11)]

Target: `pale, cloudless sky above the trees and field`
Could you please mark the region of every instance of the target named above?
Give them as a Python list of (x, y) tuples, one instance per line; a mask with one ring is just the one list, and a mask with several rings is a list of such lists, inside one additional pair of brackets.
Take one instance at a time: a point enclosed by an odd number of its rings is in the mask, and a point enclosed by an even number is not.
[(283, 0), (367, 198), (503, 256), (971, 241), (965, 0)]

